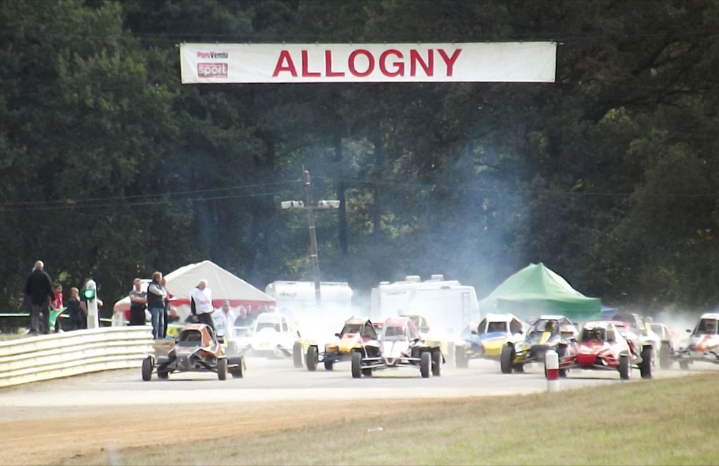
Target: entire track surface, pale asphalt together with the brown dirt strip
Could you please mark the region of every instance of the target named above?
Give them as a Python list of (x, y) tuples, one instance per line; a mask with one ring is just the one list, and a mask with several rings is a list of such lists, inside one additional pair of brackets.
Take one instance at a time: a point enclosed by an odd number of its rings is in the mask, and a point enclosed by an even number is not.
[[(441, 377), (423, 379), (416, 368), (377, 371), (353, 379), (349, 363), (336, 371), (292, 367), (291, 360), (247, 360), (247, 377), (217, 380), (214, 373), (172, 374), (170, 380), (142, 381), (140, 369), (107, 371), (0, 389), (0, 466), (63, 462), (93, 455), (122, 455), (142, 447), (177, 447), (185, 437), (168, 434), (173, 419), (197, 419), (192, 436), (212, 441), (229, 432), (260, 435), (349, 422), (377, 413), (408, 413), (417, 403), (452, 404), (464, 397), (546, 391), (544, 368), (500, 373), (499, 363), (472, 360), (467, 369), (445, 366)], [(690, 371), (659, 371), (657, 378), (719, 371), (695, 363)], [(637, 383), (639, 371), (632, 373)], [(572, 371), (561, 389), (602, 389), (618, 373)], [(352, 403), (352, 400), (367, 400)], [(198, 407), (206, 406), (205, 410)], [(358, 409), (358, 406), (359, 409)], [(370, 406), (365, 409), (362, 406)], [(164, 408), (166, 407), (166, 409)], [(216, 416), (207, 416), (214, 413)], [(27, 443), (44, 432), (42, 442)], [(88, 433), (91, 433), (88, 435)], [(107, 456), (110, 464), (122, 464)], [(83, 462), (82, 460), (80, 461)]]

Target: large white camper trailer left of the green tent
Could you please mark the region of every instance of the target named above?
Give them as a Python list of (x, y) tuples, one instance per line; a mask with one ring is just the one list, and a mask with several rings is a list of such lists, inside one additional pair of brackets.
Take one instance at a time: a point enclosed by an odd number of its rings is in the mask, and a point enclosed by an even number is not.
[(421, 281), (408, 276), (404, 281), (383, 282), (372, 289), (372, 314), (377, 321), (398, 315), (421, 315), (441, 332), (454, 339), (470, 322), (479, 322), (480, 309), (473, 286), (433, 275)]

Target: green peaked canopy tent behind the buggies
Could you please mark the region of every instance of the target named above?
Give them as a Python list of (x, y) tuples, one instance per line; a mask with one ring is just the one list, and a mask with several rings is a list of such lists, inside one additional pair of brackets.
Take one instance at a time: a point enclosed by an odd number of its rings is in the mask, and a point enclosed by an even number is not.
[(600, 318), (601, 307), (601, 299), (577, 292), (567, 280), (541, 262), (510, 276), (480, 301), (482, 313), (511, 313), (521, 319), (560, 314), (572, 322)]

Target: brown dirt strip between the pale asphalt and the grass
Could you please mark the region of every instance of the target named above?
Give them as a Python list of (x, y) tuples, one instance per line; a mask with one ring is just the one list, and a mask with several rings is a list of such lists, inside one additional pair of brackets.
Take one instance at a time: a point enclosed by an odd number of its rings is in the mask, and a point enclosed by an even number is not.
[[(459, 400), (286, 401), (198, 406), (102, 406), (32, 413), (0, 421), (0, 465), (37, 465), (132, 447), (226, 437), (247, 438), (287, 429), (409, 411)], [(19, 414), (19, 413), (18, 413)]]

